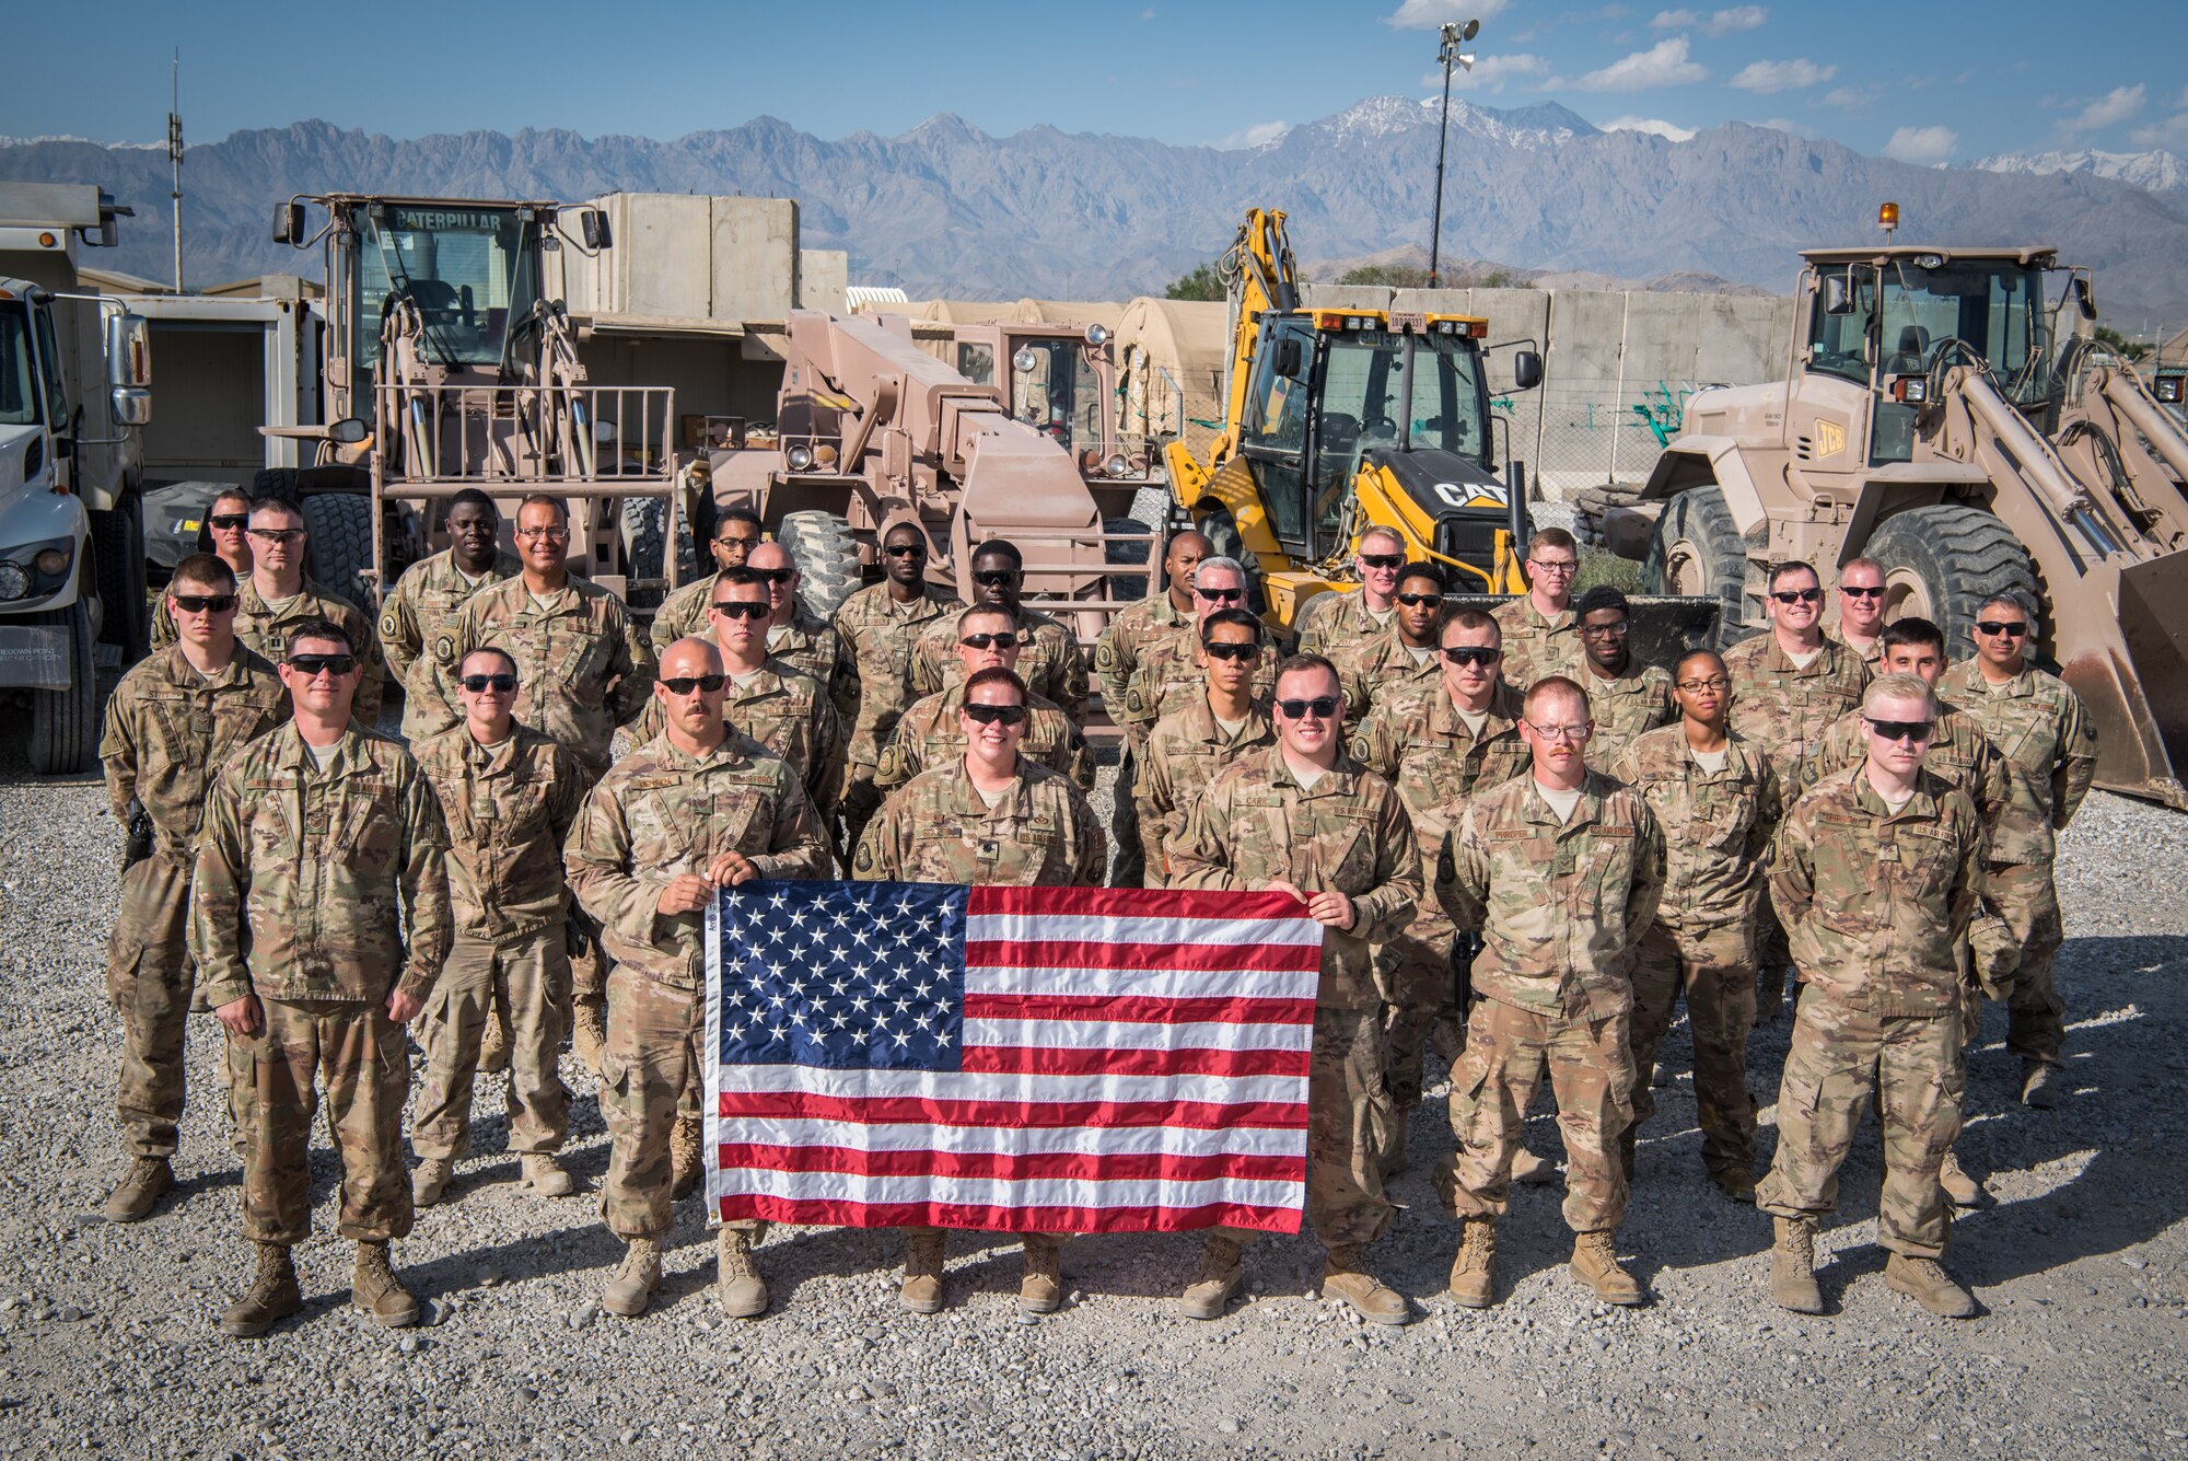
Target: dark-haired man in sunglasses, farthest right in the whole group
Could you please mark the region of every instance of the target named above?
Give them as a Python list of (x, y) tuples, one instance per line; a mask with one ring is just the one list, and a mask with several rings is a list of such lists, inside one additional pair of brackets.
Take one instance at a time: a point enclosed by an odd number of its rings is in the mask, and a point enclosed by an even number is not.
[(2020, 595), (1991, 599), (1976, 610), (1976, 656), (1947, 669), (1936, 689), (2011, 763), (2011, 805), (1991, 831), (1987, 892), (2022, 945), (2006, 997), (2006, 1050), (2022, 1059), (2022, 1100), (2052, 1107), (2065, 1043), (2065, 1004), (2052, 982), (2065, 940), (2052, 860), (2057, 833), (2096, 781), (2096, 726), (2065, 680), (2028, 663), (2035, 628)]

